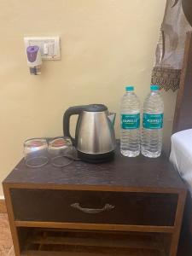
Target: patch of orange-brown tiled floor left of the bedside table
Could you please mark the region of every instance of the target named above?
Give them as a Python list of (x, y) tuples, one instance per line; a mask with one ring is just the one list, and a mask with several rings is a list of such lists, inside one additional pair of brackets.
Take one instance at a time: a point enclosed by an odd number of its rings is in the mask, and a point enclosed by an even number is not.
[(0, 213), (0, 256), (15, 256), (6, 213)]

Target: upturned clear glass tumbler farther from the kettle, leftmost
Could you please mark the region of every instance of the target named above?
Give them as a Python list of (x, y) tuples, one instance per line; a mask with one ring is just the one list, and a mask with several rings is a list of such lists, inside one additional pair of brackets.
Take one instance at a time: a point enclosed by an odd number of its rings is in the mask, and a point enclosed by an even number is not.
[(26, 166), (41, 167), (48, 163), (48, 143), (44, 138), (32, 138), (24, 143)]

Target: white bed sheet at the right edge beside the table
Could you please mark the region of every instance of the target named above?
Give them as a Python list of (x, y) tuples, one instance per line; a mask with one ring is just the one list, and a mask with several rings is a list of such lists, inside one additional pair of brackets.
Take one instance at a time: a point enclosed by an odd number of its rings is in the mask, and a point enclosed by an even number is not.
[(170, 160), (187, 183), (192, 196), (192, 129), (172, 135)]

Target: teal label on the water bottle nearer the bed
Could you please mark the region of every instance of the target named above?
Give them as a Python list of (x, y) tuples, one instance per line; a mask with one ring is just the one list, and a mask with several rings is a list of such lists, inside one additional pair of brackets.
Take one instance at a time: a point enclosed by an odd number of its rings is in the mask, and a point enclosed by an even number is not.
[(161, 129), (163, 127), (163, 113), (143, 113), (143, 128)]

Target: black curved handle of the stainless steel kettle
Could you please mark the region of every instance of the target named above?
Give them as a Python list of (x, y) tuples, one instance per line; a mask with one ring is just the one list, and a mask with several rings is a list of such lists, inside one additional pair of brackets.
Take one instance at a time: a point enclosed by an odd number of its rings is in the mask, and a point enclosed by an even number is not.
[(71, 136), (71, 133), (70, 133), (70, 127), (69, 127), (70, 126), (70, 118), (74, 114), (79, 115), (80, 113), (82, 113), (82, 111), (84, 111), (85, 108), (86, 108), (86, 106), (71, 107), (71, 108), (68, 108), (63, 115), (63, 134), (65, 137), (71, 138), (73, 145), (75, 145), (75, 139)]

